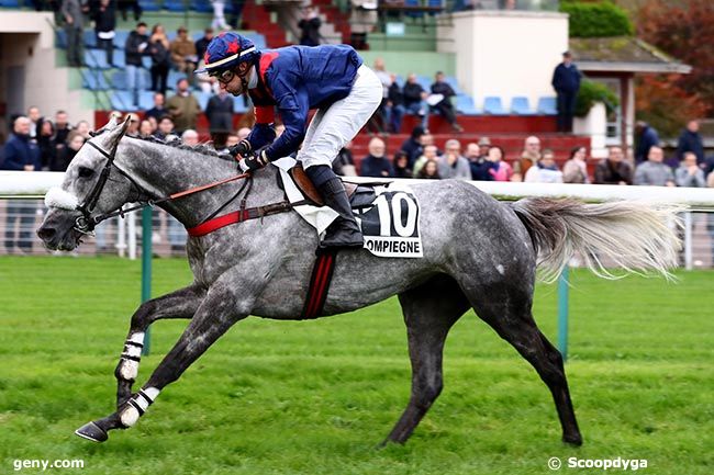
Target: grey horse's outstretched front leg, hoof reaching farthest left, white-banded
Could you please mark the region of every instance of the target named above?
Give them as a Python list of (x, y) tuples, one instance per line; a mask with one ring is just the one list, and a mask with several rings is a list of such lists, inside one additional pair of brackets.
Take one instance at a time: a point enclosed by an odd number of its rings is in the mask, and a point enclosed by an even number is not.
[(250, 289), (256, 282), (242, 285), (245, 281), (236, 282), (235, 279), (223, 279), (223, 276), (211, 285), (189, 326), (156, 367), (148, 382), (116, 412), (82, 426), (77, 429), (77, 436), (103, 442), (109, 438), (107, 434), (109, 430), (127, 429), (134, 426), (166, 385), (178, 380), (219, 337), (250, 313), (255, 296), (259, 295), (259, 291), (252, 292)]

